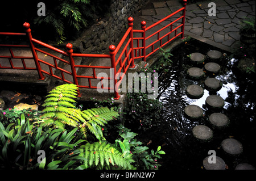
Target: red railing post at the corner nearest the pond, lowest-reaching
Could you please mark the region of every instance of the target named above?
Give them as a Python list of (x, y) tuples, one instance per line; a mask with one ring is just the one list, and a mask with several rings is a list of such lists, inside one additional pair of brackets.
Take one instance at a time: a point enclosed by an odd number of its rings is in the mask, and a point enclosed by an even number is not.
[(115, 45), (110, 45), (109, 46), (109, 54), (110, 54), (110, 58), (111, 58), (111, 65), (112, 65), (112, 68), (114, 69), (114, 77), (113, 77), (113, 80), (114, 80), (114, 93), (115, 93), (115, 96), (114, 96), (114, 99), (115, 100), (118, 100), (120, 98), (120, 95), (118, 94), (118, 87), (117, 86), (117, 68), (115, 66)]

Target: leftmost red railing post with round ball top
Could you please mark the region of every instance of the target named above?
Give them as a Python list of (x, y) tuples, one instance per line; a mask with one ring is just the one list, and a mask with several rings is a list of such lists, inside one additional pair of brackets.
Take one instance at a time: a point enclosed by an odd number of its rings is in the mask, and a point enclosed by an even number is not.
[(35, 46), (32, 42), (30, 24), (25, 22), (23, 24), (23, 27), (26, 28), (26, 33), (27, 33), (27, 36), (28, 36), (28, 40), (30, 41), (30, 48), (31, 48), (32, 55), (34, 57), (36, 70), (38, 70), (39, 80), (44, 80), (45, 77), (43, 76), (42, 71), (41, 71), (41, 66), (40, 66), (39, 61), (38, 61), (38, 54), (36, 53)]

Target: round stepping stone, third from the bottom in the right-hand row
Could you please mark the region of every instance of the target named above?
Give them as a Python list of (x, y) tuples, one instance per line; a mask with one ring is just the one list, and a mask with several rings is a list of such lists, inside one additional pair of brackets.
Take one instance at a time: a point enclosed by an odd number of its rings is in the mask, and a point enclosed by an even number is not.
[(225, 127), (229, 124), (229, 118), (224, 113), (216, 112), (209, 116), (209, 121), (218, 128)]

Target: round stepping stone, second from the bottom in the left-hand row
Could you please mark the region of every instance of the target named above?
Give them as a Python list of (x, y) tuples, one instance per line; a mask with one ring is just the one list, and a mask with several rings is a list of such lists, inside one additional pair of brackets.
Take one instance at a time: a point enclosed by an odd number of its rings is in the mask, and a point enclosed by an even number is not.
[(212, 129), (205, 125), (197, 125), (192, 129), (193, 136), (199, 140), (207, 141), (213, 136)]

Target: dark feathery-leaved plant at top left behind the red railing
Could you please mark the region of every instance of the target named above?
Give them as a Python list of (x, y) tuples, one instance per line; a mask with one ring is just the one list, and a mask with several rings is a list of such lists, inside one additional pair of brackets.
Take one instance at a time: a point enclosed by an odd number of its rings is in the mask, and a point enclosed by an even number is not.
[(56, 32), (57, 44), (63, 43), (66, 39), (64, 28), (80, 31), (86, 27), (89, 18), (92, 18), (89, 0), (58, 0), (46, 1), (46, 16), (37, 16), (35, 24), (48, 24)]

